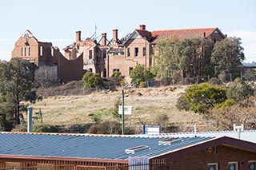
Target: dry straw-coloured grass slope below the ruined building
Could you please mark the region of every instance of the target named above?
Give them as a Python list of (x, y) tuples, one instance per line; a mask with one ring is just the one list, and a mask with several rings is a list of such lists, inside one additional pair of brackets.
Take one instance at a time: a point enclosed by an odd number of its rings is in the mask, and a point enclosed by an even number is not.
[[(162, 88), (126, 89), (125, 105), (132, 106), (132, 116), (126, 117), (126, 123), (134, 126), (154, 125), (155, 118), (162, 113), (169, 117), (170, 124), (203, 124), (200, 115), (179, 111), (175, 104), (185, 86)], [(84, 96), (47, 97), (33, 105), (34, 113), (42, 109), (43, 123), (51, 125), (86, 124), (92, 122), (90, 114), (114, 108), (114, 103), (121, 97), (121, 89), (114, 92), (101, 91)]]

